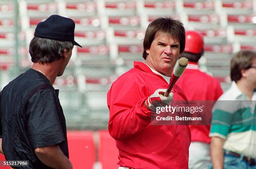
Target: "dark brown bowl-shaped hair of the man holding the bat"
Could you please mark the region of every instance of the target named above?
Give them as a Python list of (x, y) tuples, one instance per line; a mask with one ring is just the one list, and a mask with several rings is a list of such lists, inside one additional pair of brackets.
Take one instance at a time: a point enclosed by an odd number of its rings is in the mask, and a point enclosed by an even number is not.
[(145, 33), (145, 38), (143, 41), (143, 58), (145, 60), (148, 55), (146, 50), (150, 49), (151, 43), (155, 39), (156, 33), (158, 32), (165, 33), (175, 40), (179, 40), (179, 52), (182, 53), (184, 51), (185, 29), (182, 22), (172, 17), (159, 17), (148, 25)]

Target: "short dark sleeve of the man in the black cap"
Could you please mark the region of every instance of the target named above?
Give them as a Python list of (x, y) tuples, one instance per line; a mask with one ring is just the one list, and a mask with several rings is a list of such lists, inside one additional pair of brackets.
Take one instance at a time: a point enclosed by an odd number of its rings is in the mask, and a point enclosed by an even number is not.
[(28, 137), (33, 149), (65, 141), (53, 89), (41, 89), (36, 92), (28, 101), (26, 116)]

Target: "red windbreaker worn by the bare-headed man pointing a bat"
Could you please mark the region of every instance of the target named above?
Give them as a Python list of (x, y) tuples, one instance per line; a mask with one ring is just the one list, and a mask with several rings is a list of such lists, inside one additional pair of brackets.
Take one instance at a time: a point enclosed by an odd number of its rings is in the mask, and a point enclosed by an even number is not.
[[(121, 75), (108, 91), (108, 130), (119, 149), (118, 164), (134, 169), (188, 169), (191, 134), (188, 126), (151, 125), (144, 102), (168, 83), (143, 62)], [(174, 100), (187, 100), (177, 87)]]

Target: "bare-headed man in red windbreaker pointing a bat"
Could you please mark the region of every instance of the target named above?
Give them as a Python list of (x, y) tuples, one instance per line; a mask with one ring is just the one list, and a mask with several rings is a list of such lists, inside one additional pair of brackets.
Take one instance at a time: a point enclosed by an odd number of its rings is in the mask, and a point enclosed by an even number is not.
[(172, 100), (187, 100), (174, 85), (168, 97), (173, 67), (184, 51), (181, 22), (161, 17), (148, 25), (143, 62), (121, 75), (108, 92), (108, 130), (119, 149), (120, 169), (188, 169), (190, 130), (185, 125), (153, 125), (151, 113)]

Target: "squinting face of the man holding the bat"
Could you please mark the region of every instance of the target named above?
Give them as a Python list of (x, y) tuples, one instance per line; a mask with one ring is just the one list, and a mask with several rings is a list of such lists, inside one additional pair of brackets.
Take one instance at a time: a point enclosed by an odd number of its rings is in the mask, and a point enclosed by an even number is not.
[(157, 32), (150, 49), (146, 50), (148, 54), (146, 64), (157, 72), (170, 77), (179, 58), (179, 50), (178, 40), (166, 35), (166, 33)]

